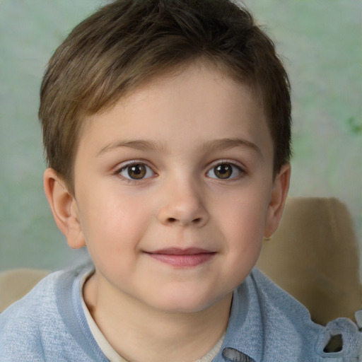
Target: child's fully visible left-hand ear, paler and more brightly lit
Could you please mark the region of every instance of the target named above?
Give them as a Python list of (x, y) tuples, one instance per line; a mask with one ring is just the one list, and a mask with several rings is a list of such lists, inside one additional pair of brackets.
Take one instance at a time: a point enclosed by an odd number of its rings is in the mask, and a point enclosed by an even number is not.
[(43, 177), (44, 190), (59, 230), (68, 245), (78, 249), (86, 245), (83, 238), (78, 206), (75, 197), (67, 189), (62, 177), (52, 168), (47, 168)]

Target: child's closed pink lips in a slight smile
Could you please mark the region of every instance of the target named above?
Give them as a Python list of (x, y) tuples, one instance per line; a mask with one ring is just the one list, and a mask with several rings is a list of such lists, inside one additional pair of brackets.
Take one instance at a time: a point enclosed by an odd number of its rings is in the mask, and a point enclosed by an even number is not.
[(200, 264), (208, 262), (216, 255), (216, 252), (201, 249), (199, 247), (189, 247), (180, 249), (170, 247), (168, 249), (160, 249), (153, 252), (146, 252), (147, 255), (158, 262), (169, 264), (173, 267), (197, 267)]

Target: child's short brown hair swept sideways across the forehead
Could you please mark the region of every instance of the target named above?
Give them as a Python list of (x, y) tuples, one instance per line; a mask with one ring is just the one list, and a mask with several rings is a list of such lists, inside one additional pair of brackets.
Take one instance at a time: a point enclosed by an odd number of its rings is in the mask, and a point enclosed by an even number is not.
[(146, 78), (205, 58), (259, 96), (274, 142), (274, 173), (291, 156), (288, 76), (273, 42), (230, 0), (116, 0), (71, 31), (49, 61), (39, 117), (49, 167), (74, 192), (82, 119)]

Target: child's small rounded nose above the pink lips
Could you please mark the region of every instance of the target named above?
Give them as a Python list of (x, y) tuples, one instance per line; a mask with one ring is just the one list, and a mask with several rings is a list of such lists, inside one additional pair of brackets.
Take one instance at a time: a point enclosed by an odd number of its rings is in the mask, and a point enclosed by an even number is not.
[(202, 192), (192, 182), (175, 182), (163, 187), (163, 204), (158, 220), (165, 225), (202, 227), (209, 221)]

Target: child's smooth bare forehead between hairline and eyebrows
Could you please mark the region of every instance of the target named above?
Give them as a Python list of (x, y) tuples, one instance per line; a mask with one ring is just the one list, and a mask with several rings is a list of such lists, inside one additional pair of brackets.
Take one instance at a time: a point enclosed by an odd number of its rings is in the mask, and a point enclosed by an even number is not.
[[(197, 63), (149, 79), (110, 108), (87, 117), (82, 139), (93, 145), (134, 139), (176, 146), (238, 137), (262, 143), (269, 137), (264, 111), (250, 87), (216, 66)], [(100, 139), (104, 138), (103, 146)], [(255, 142), (252, 142), (255, 140)]]

